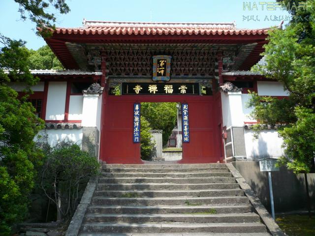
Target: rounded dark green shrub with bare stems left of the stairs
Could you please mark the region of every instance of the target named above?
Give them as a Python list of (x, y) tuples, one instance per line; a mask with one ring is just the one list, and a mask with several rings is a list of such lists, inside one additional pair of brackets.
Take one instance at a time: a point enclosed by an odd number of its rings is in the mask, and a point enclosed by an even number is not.
[(99, 168), (95, 156), (71, 142), (61, 142), (48, 151), (40, 182), (45, 195), (56, 205), (59, 220), (72, 217), (86, 183)]

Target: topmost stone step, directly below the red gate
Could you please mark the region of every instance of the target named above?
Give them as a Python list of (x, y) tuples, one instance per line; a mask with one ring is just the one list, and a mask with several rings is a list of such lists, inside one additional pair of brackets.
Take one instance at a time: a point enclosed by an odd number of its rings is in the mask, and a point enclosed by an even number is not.
[(167, 169), (167, 168), (217, 168), (227, 169), (224, 163), (209, 163), (209, 164), (103, 164), (103, 168), (138, 168), (138, 169)]

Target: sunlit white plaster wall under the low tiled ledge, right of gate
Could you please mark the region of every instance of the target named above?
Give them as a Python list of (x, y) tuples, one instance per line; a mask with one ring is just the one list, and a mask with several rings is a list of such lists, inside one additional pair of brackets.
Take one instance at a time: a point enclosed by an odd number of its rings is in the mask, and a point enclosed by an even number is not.
[(254, 131), (244, 130), (245, 148), (248, 160), (258, 160), (266, 157), (278, 158), (284, 155), (283, 139), (276, 130), (263, 130), (258, 139), (253, 138)]

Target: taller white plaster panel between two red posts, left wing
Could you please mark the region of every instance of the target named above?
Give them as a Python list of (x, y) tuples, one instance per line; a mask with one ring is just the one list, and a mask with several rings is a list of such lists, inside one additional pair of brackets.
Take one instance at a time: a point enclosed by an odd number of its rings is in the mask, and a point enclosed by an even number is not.
[(67, 82), (49, 82), (46, 119), (63, 120)]

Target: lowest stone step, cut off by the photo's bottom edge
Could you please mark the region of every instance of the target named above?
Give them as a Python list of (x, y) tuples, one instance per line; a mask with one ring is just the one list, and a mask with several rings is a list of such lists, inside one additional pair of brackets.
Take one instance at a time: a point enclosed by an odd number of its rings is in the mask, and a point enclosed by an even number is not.
[[(79, 236), (231, 236), (231, 234), (221, 234), (221, 233), (82, 233)], [(270, 236), (269, 233), (233, 233), (232, 236)]]

